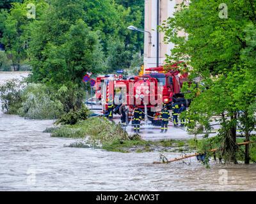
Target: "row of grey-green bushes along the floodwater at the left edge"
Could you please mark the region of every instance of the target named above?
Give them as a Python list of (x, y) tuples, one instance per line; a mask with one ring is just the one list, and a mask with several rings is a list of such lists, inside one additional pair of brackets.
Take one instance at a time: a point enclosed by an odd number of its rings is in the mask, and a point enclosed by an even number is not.
[(60, 118), (60, 122), (74, 120), (70, 124), (86, 119), (89, 112), (83, 106), (83, 96), (84, 93), (76, 90), (76, 87), (67, 88), (65, 85), (56, 89), (46, 84), (33, 84), (18, 79), (0, 85), (2, 111), (26, 119)]

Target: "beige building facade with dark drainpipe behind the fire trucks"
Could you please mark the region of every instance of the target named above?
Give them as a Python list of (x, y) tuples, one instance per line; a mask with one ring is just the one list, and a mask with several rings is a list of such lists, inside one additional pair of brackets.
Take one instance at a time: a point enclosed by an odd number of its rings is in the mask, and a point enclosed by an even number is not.
[[(177, 10), (177, 4), (182, 3), (184, 0), (145, 0), (145, 33), (144, 42), (144, 66), (145, 68), (154, 68), (157, 66), (157, 1), (159, 5), (158, 22), (159, 25), (163, 24), (164, 20), (173, 17), (173, 13)], [(188, 1), (186, 1), (187, 3)], [(166, 54), (170, 55), (173, 43), (164, 43), (164, 33), (159, 33), (159, 50), (158, 61), (159, 66), (164, 64)]]

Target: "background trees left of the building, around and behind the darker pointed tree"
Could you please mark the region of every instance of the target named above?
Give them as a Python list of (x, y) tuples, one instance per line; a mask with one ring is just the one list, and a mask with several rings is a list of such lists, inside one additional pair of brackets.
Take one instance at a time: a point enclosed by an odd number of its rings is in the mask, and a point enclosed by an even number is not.
[[(37, 74), (35, 80), (45, 78), (42, 69), (47, 59), (47, 49), (52, 46), (58, 49), (63, 45), (68, 40), (66, 34), (71, 25), (75, 25), (79, 19), (85, 22), (84, 25), (88, 26), (88, 29), (97, 32), (95, 36), (97, 35), (99, 43), (95, 52), (99, 54), (97, 58), (100, 59), (99, 63), (95, 64), (97, 71), (106, 73), (119, 68), (129, 68), (132, 56), (143, 51), (143, 34), (131, 32), (127, 27), (143, 27), (144, 1), (132, 3), (113, 0), (25, 0), (3, 1), (1, 5), (9, 8), (10, 3), (10, 12), (6, 10), (0, 14), (0, 38), (15, 69), (18, 70), (20, 63), (28, 58), (37, 70), (33, 70), (35, 73), (42, 71), (42, 75)], [(26, 16), (28, 3), (36, 6), (35, 20)], [(116, 53), (116, 44), (120, 45), (119, 53)], [(111, 60), (113, 55), (116, 59)]]

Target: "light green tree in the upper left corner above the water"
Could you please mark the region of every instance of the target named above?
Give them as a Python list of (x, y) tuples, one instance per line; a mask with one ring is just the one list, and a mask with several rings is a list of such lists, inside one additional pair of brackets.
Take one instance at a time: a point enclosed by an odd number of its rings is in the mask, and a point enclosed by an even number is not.
[(12, 61), (15, 71), (19, 71), (20, 63), (27, 59), (26, 49), (30, 36), (30, 25), (33, 18), (28, 18), (28, 4), (34, 3), (37, 7), (36, 15), (40, 17), (40, 8), (44, 6), (44, 0), (31, 0), (21, 3), (12, 3), (10, 13), (1, 11), (0, 18), (3, 22), (0, 29), (3, 31), (1, 42), (4, 44), (6, 54)]

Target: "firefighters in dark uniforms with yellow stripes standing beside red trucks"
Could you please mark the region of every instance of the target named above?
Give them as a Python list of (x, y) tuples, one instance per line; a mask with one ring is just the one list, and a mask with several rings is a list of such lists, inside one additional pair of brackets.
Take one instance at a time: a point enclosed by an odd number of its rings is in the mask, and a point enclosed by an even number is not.
[[(108, 103), (108, 118), (109, 119), (113, 119), (113, 101), (109, 101)], [(182, 112), (186, 111), (186, 106), (184, 106), (184, 104), (182, 104), (181, 106), (179, 106), (178, 103), (173, 103), (172, 104), (172, 116), (173, 116), (173, 124), (175, 127), (179, 126), (179, 115)], [(121, 115), (121, 122), (124, 123), (126, 121), (126, 109), (125, 109), (125, 105), (120, 106), (119, 108), (119, 113)], [(142, 115), (143, 112), (140, 108), (138, 108), (138, 106), (134, 107), (134, 112), (133, 112), (133, 126), (134, 126), (134, 132), (135, 133), (139, 133), (140, 132), (140, 122), (142, 120)], [(169, 120), (171, 120), (171, 114), (167, 108), (167, 106), (165, 104), (163, 104), (163, 110), (161, 110), (159, 118), (161, 118), (161, 133), (166, 133), (168, 131), (168, 123)], [(180, 117), (180, 127), (184, 127), (185, 125), (185, 119)]]

